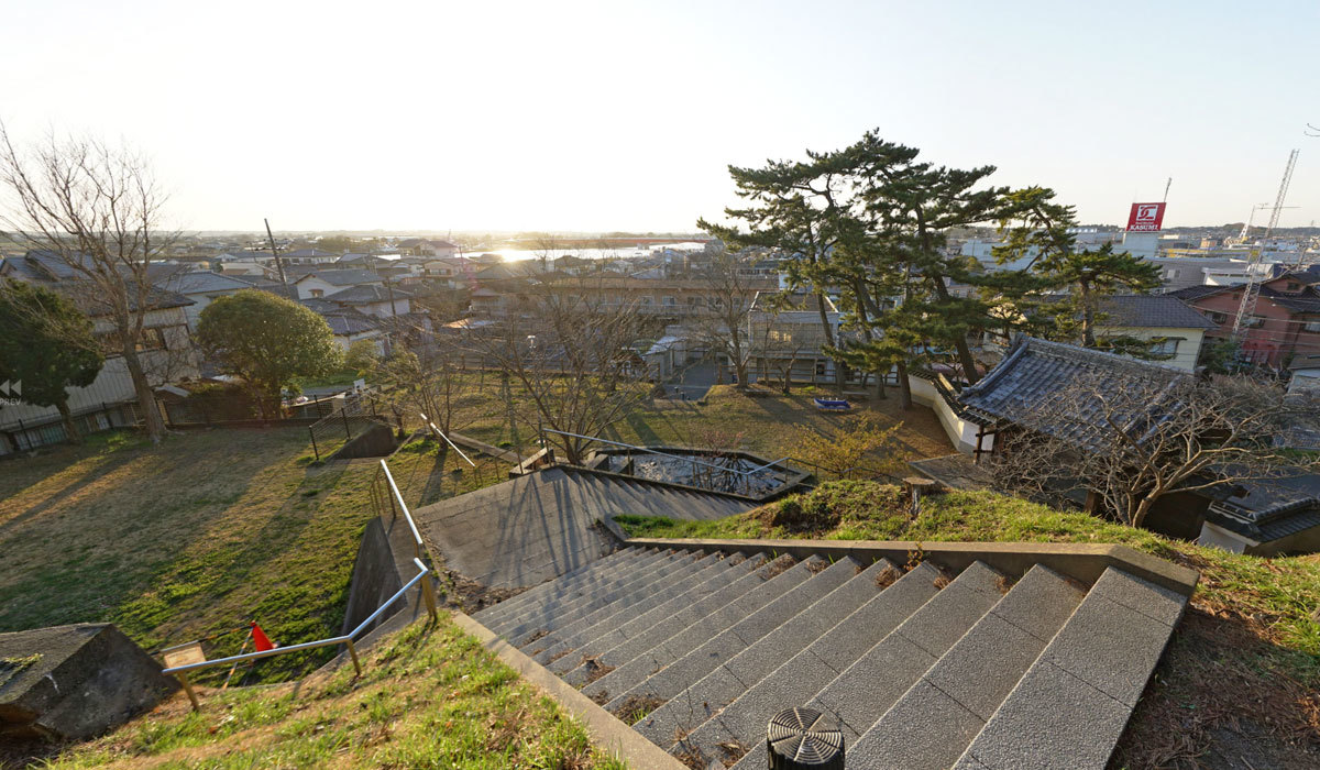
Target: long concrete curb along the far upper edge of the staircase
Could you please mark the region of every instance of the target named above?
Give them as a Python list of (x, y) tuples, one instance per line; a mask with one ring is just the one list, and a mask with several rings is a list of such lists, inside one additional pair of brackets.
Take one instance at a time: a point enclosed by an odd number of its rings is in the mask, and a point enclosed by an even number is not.
[(1127, 545), (1090, 543), (919, 543), (915, 540), (702, 540), (671, 538), (631, 538), (626, 545), (643, 548), (684, 548), (688, 551), (725, 551), (733, 553), (788, 553), (795, 559), (853, 556), (866, 563), (888, 559), (906, 564), (912, 553), (921, 552), (941, 567), (956, 572), (973, 561), (1012, 577), (1022, 577), (1032, 565), (1040, 564), (1086, 585), (1092, 585), (1105, 569), (1117, 567), (1129, 575), (1148, 580), (1183, 596), (1192, 596), (1201, 573), (1142, 553)]

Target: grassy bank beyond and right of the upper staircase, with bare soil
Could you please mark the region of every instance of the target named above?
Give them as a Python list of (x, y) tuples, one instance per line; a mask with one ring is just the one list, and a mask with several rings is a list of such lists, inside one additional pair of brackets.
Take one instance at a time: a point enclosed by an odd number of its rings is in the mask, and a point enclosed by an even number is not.
[(717, 522), (618, 522), (644, 538), (1131, 545), (1201, 581), (1111, 766), (1320, 766), (1320, 555), (1239, 556), (979, 491), (931, 498), (911, 520), (898, 487), (870, 482), (826, 483)]

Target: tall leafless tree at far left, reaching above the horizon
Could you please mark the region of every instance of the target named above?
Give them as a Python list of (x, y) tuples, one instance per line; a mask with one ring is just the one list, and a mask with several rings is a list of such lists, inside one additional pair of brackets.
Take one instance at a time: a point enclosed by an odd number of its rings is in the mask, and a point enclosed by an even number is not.
[(54, 135), (20, 149), (0, 124), (0, 190), (8, 198), (3, 221), (11, 236), (57, 258), (69, 269), (59, 289), (112, 324), (147, 435), (158, 441), (165, 423), (143, 350), (156, 334), (150, 268), (176, 234), (161, 227), (166, 195), (148, 162), (127, 148)]

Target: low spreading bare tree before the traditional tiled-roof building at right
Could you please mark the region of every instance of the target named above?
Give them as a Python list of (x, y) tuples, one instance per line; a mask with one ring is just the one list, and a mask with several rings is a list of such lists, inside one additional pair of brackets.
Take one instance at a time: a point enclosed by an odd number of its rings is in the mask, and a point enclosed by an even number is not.
[[(1061, 497), (1094, 495), (1134, 527), (1175, 493), (1228, 494), (1316, 468), (1280, 449), (1276, 436), (1315, 423), (1313, 407), (1249, 378), (1133, 379), (1123, 388), (1076, 380), (1018, 420), (991, 461), (1006, 487)], [(998, 440), (998, 438), (997, 438)]]

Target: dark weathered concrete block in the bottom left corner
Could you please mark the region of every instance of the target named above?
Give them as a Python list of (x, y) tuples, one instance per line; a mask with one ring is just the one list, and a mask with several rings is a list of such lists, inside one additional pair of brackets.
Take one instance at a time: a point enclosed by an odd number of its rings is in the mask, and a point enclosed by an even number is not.
[(177, 688), (110, 623), (0, 634), (0, 741), (88, 738)]

